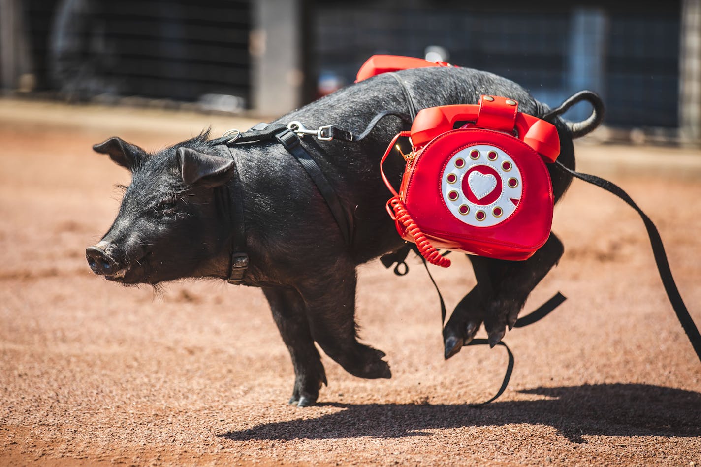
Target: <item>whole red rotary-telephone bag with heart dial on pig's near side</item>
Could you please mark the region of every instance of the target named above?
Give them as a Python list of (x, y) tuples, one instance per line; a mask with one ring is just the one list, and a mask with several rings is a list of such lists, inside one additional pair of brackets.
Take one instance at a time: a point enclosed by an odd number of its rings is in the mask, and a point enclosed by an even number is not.
[[(461, 128), (455, 128), (466, 122)], [(559, 155), (557, 129), (518, 111), (507, 97), (418, 112), (408, 136), (399, 193), (388, 212), (397, 232), (433, 264), (449, 266), (437, 248), (499, 259), (528, 259), (550, 235), (553, 195), (545, 162)]]

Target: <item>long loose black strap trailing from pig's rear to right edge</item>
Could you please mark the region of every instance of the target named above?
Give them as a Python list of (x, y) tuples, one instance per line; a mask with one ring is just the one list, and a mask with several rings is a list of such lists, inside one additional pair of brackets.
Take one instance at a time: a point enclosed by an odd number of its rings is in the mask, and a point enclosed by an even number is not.
[(674, 277), (672, 276), (672, 271), (669, 269), (669, 262), (667, 261), (667, 254), (665, 253), (665, 245), (662, 245), (662, 238), (660, 238), (660, 232), (658, 232), (657, 227), (651, 221), (645, 212), (643, 212), (638, 205), (628, 196), (628, 194), (623, 191), (618, 185), (604, 180), (596, 175), (590, 175), (586, 173), (576, 172), (570, 168), (565, 167), (559, 161), (555, 162), (557, 167), (564, 172), (568, 172), (573, 177), (577, 177), (580, 180), (584, 180), (587, 183), (596, 185), (599, 188), (603, 188), (609, 191), (618, 198), (625, 201), (631, 208), (636, 210), (640, 217), (643, 219), (645, 228), (648, 231), (648, 237), (650, 238), (650, 245), (653, 249), (653, 255), (655, 257), (655, 264), (657, 264), (658, 272), (660, 273), (660, 279), (662, 279), (662, 285), (665, 286), (665, 292), (667, 292), (667, 298), (669, 303), (672, 304), (674, 313), (676, 313), (676, 318), (679, 319), (681, 327), (683, 327), (684, 332), (686, 332), (686, 337), (688, 337), (693, 346), (696, 356), (701, 361), (701, 334), (694, 324), (693, 319), (689, 315), (686, 305), (679, 295), (679, 290), (676, 288), (676, 283), (674, 282)]

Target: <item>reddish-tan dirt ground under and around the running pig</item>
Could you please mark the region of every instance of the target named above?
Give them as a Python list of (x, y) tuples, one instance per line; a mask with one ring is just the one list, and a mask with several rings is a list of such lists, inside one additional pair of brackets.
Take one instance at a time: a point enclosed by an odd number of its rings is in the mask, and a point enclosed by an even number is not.
[[(505, 351), (443, 360), (418, 259), (405, 277), (359, 270), (362, 339), (393, 379), (357, 379), (324, 356), (329, 386), (305, 409), (287, 405), (292, 365), (259, 290), (182, 282), (154, 295), (91, 273), (84, 250), (128, 172), (90, 145), (118, 134), (155, 149), (232, 123), (254, 121), (0, 101), (0, 465), (701, 465), (701, 365), (644, 226), (583, 182), (556, 208), (566, 252), (526, 311), (558, 290), (569, 299), (508, 332), (511, 384), (480, 409), (467, 403), (496, 391)], [(655, 221), (701, 325), (700, 152), (578, 154)], [(435, 276), (449, 306), (475, 283), (460, 257)]]

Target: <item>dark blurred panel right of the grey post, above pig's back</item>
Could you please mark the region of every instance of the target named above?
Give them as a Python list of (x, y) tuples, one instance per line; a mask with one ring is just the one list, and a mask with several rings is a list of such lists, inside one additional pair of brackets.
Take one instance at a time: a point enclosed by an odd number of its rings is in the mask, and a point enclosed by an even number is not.
[[(374, 53), (423, 56), (440, 46), (456, 65), (494, 72), (555, 105), (600, 93), (606, 123), (679, 126), (679, 1), (523, 2), (318, 0), (315, 71), (323, 92), (349, 83)], [(580, 119), (586, 106), (568, 117)]]

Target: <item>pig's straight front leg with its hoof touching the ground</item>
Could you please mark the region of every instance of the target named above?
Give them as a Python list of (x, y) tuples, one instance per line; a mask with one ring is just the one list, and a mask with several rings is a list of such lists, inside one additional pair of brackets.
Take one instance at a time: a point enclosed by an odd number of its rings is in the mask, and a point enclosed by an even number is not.
[(297, 290), (285, 287), (266, 287), (268, 299), (278, 330), (292, 356), (294, 390), (290, 404), (297, 407), (313, 405), (322, 384), (327, 384), (324, 366), (309, 330), (306, 306)]

